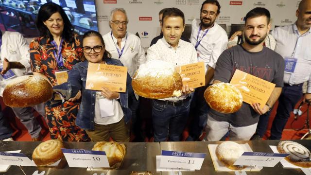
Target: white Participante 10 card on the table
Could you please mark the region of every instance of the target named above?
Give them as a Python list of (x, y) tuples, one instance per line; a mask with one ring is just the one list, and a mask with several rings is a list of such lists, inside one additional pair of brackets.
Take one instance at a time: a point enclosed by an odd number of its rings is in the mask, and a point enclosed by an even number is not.
[(109, 168), (109, 162), (104, 151), (62, 148), (62, 152), (69, 167)]

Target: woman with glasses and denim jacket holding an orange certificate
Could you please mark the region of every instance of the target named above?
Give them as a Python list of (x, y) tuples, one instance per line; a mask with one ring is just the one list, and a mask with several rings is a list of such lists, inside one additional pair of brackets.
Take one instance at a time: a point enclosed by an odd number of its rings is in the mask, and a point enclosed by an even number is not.
[[(125, 93), (113, 92), (104, 87), (101, 91), (88, 90), (86, 74), (89, 62), (116, 66), (123, 66), (123, 64), (117, 59), (112, 59), (111, 54), (105, 51), (103, 37), (95, 31), (88, 31), (83, 36), (83, 52), (86, 61), (74, 65), (69, 71), (69, 81), (54, 86), (54, 91), (60, 92), (64, 98), (72, 98), (79, 90), (82, 91), (82, 102), (76, 124), (86, 129), (92, 141), (109, 141), (110, 137), (115, 141), (129, 141), (129, 132), (125, 123), (132, 115), (128, 107), (128, 96), (134, 93), (130, 75), (127, 73)], [(113, 115), (101, 114), (111, 108)]]

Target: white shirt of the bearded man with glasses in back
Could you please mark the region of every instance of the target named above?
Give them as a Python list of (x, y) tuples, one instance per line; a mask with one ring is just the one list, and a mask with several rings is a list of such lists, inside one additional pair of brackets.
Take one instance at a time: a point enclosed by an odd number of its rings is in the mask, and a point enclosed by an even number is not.
[[(227, 48), (228, 35), (225, 30), (216, 22), (214, 23), (213, 27), (206, 30), (201, 30), (199, 33), (200, 22), (200, 19), (193, 19), (191, 23), (192, 30), (190, 41), (193, 46), (195, 46), (196, 43), (202, 39), (197, 47), (196, 52), (198, 53), (199, 62), (204, 62), (206, 67), (205, 71), (207, 71), (207, 65), (215, 69), (219, 55)], [(207, 34), (203, 37), (206, 31)], [(197, 37), (198, 34), (199, 37)]]

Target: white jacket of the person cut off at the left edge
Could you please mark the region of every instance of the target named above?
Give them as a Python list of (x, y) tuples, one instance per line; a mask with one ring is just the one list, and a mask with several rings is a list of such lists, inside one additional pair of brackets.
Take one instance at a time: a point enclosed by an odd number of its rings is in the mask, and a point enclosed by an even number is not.
[[(17, 77), (31, 74), (29, 45), (25, 38), (18, 32), (5, 32), (2, 35), (2, 44), (0, 51), (0, 61), (6, 58), (9, 62), (19, 62), (25, 69), (11, 69)], [(12, 80), (13, 78), (9, 79)], [(8, 80), (0, 75), (0, 95), (6, 86)]]

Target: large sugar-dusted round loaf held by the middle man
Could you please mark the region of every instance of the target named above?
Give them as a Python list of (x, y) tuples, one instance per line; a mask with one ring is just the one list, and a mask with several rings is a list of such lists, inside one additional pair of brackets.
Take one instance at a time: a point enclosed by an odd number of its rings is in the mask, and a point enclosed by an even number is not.
[(136, 94), (149, 99), (181, 96), (183, 82), (171, 63), (153, 60), (135, 72), (132, 87)]

